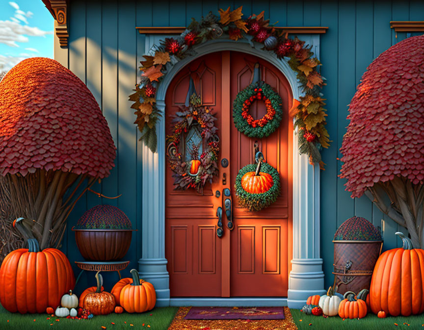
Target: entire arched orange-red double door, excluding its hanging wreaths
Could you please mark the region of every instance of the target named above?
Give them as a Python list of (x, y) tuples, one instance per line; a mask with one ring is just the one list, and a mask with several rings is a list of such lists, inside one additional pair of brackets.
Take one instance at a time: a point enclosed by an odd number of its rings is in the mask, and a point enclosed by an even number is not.
[[(261, 80), (280, 94), (285, 113), (279, 129), (262, 139), (238, 132), (232, 118), (233, 101), (251, 82), (255, 63), (260, 64)], [(292, 254), (290, 85), (279, 70), (259, 57), (230, 51), (205, 55), (189, 63), (169, 85), (166, 134), (172, 132), (172, 114), (185, 103), (190, 76), (203, 105), (218, 119), (219, 176), (203, 194), (175, 191), (172, 171), (166, 166), (165, 254), (171, 296), (287, 296)], [(256, 118), (265, 112), (261, 101), (250, 108)], [(266, 162), (280, 173), (281, 195), (270, 207), (248, 212), (238, 205), (234, 184), (238, 170), (254, 162), (255, 141)], [(223, 158), (228, 160), (226, 167), (221, 165)], [(224, 215), (225, 188), (231, 191), (233, 230)], [(216, 235), (219, 206), (224, 209), (222, 237)]]

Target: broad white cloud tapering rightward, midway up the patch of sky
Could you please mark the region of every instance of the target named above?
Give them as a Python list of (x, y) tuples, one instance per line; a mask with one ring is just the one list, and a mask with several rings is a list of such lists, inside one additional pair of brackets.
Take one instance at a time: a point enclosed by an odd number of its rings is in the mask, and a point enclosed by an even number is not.
[(10, 47), (19, 47), (17, 42), (28, 42), (27, 36), (45, 36), (52, 31), (43, 31), (38, 27), (29, 27), (12, 21), (0, 21), (0, 43)]

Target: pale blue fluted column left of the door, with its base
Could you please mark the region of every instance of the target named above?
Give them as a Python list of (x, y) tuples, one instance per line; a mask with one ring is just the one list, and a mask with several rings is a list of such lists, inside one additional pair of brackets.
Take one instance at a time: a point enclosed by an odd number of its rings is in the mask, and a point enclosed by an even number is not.
[[(158, 100), (158, 109), (164, 113), (165, 102)], [(169, 274), (165, 259), (165, 125), (164, 116), (156, 125), (158, 152), (143, 146), (142, 195), (142, 257), (138, 260), (140, 278), (153, 284), (156, 306), (169, 306)]]

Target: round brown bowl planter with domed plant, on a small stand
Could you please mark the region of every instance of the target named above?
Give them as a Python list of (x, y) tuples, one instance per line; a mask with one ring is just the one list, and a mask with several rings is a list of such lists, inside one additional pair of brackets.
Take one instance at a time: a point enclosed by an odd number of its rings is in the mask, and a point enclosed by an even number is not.
[(131, 221), (117, 207), (98, 205), (72, 227), (79, 252), (86, 260), (110, 261), (125, 256), (131, 245)]

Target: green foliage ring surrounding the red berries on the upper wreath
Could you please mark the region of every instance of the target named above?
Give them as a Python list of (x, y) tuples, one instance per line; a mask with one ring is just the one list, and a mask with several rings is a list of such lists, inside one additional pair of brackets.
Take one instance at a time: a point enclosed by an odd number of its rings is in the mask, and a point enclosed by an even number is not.
[[(253, 127), (247, 123), (241, 115), (243, 112), (243, 103), (245, 100), (249, 99), (252, 95), (255, 95), (257, 92), (255, 88), (262, 88), (262, 93), (264, 96), (271, 101), (271, 105), (275, 110), (275, 115), (272, 120), (269, 120), (265, 126)], [(282, 109), (281, 96), (267, 83), (260, 81), (258, 83), (252, 83), (246, 88), (241, 90), (234, 100), (233, 103), (233, 119), (234, 125), (245, 136), (249, 138), (263, 138), (272, 134), (278, 126), (280, 126), (281, 120), (283, 119), (283, 109)]]

